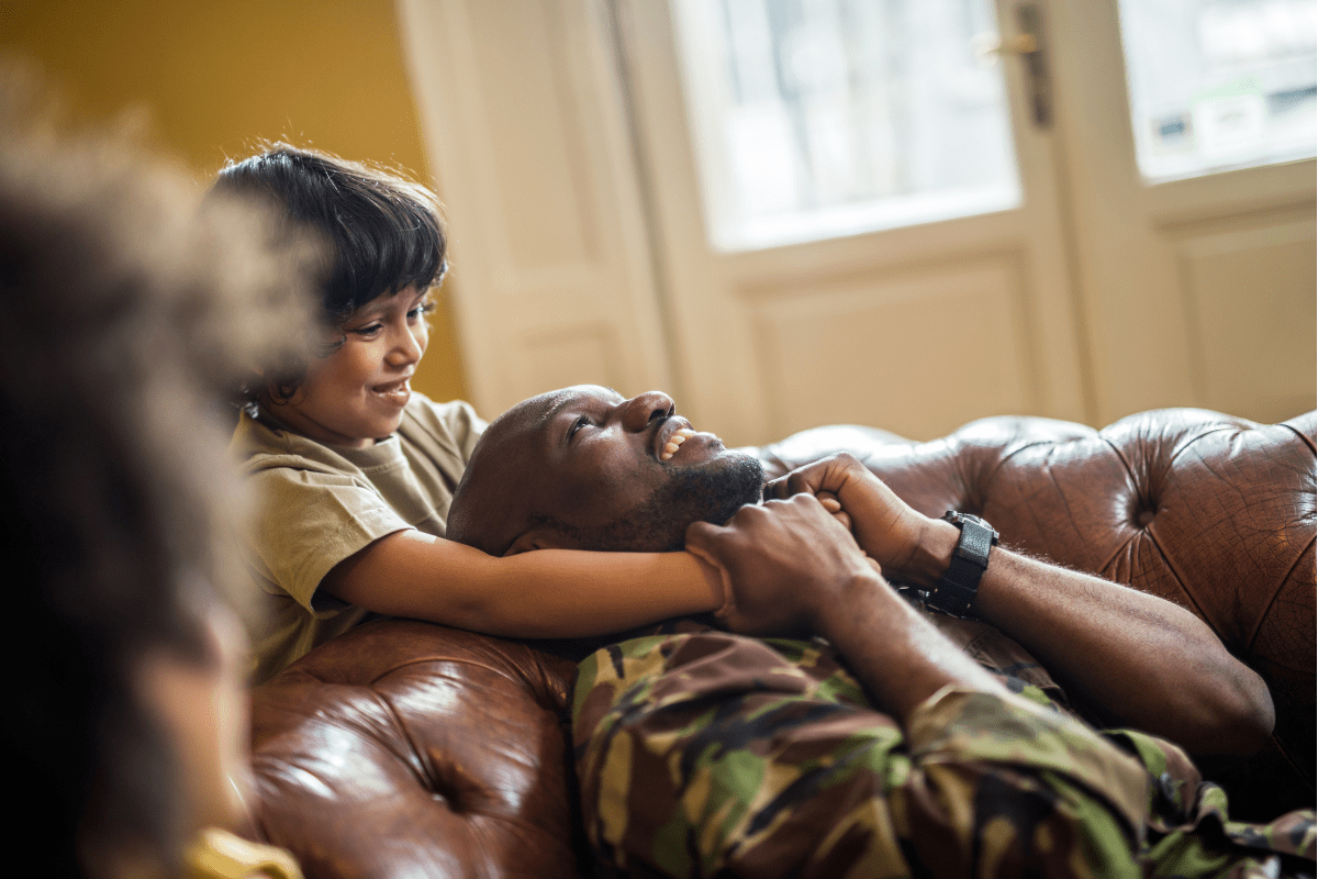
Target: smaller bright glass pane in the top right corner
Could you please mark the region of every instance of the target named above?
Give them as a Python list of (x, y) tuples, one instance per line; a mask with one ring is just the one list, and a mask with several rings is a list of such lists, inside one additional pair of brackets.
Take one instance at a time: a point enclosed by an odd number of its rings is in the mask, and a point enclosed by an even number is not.
[(1315, 0), (1122, 0), (1147, 182), (1314, 154)]

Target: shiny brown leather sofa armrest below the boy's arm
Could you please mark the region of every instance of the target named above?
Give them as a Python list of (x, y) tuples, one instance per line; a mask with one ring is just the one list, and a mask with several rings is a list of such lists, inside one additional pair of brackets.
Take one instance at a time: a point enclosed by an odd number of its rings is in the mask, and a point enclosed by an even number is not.
[(406, 619), (335, 638), (253, 693), (258, 833), (308, 879), (576, 876), (575, 672)]

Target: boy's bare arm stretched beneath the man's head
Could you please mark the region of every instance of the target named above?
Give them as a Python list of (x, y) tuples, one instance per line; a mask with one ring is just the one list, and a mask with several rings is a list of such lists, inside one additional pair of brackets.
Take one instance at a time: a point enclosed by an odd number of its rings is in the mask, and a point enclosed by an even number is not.
[(376, 613), (510, 638), (604, 635), (722, 605), (717, 572), (689, 552), (494, 557), (420, 531), (376, 540), (320, 589)]

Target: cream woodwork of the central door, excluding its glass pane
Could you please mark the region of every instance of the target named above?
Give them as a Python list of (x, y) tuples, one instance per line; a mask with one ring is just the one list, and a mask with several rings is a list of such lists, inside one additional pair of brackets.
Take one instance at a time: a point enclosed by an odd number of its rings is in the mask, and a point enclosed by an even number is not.
[(618, 9), (675, 368), (699, 426), (762, 443), (829, 422), (932, 438), (990, 414), (1086, 418), (1054, 145), (1020, 66), (1007, 88), (1021, 207), (728, 254), (695, 221), (705, 212), (670, 8)]

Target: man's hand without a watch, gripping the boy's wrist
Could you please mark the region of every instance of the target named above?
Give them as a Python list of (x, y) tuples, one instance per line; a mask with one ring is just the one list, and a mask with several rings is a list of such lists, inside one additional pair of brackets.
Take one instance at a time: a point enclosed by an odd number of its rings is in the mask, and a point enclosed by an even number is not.
[(884, 588), (879, 567), (812, 494), (743, 506), (726, 526), (696, 522), (687, 550), (726, 573), (718, 615), (747, 635), (820, 631), (822, 610), (847, 589)]

